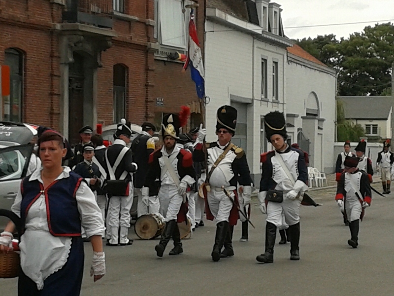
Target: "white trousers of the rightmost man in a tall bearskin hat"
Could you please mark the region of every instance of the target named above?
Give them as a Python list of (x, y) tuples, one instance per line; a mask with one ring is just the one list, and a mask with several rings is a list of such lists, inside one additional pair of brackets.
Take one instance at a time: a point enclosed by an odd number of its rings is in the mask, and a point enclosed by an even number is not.
[(291, 200), (283, 197), (283, 202), (268, 201), (267, 222), (274, 224), (279, 229), (286, 229), (289, 225), (299, 222), (299, 199)]

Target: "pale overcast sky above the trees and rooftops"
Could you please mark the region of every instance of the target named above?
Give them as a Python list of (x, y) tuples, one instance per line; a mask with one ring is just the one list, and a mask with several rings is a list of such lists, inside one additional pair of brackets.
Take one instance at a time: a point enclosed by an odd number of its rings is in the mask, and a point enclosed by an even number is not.
[(316, 37), (335, 34), (337, 38), (361, 32), (374, 22), (354, 25), (295, 28), (338, 23), (393, 20), (394, 0), (271, 0), (281, 5), (285, 35), (289, 38)]

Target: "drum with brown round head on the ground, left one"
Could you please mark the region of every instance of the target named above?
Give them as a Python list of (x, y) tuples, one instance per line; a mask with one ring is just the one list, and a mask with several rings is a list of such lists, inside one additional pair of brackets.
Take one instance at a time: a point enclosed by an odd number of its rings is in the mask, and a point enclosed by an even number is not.
[(135, 234), (140, 239), (152, 239), (162, 234), (165, 222), (156, 214), (143, 215), (134, 224)]

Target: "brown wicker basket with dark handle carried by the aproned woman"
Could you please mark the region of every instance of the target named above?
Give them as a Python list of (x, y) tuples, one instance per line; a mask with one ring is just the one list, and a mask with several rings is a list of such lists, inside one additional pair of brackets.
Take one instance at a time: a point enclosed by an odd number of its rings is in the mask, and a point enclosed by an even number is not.
[[(21, 221), (18, 216), (8, 210), (0, 209), (0, 216), (11, 219), (16, 225), (18, 234), (21, 235)], [(9, 252), (7, 254), (0, 253), (0, 278), (14, 278), (19, 275), (20, 266), (19, 254), (15, 252)]]

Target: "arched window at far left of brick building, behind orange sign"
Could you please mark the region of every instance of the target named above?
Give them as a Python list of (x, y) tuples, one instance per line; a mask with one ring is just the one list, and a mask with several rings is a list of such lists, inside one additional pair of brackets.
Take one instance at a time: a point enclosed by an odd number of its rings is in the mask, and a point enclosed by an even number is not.
[(7, 48), (4, 64), (10, 67), (10, 98), (4, 101), (4, 120), (22, 122), (24, 54)]

